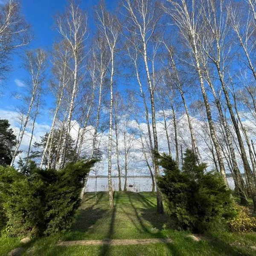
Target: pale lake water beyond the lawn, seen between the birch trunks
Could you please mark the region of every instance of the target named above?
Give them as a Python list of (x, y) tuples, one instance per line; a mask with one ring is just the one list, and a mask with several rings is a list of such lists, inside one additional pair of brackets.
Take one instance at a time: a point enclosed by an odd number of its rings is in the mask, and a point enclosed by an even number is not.
[[(85, 192), (95, 191), (95, 178), (89, 177), (87, 181), (87, 186)], [(230, 189), (235, 188), (235, 183), (232, 177), (227, 177), (227, 182)], [(122, 190), (124, 189), (125, 179), (121, 178)], [(119, 181), (118, 178), (112, 178), (112, 187), (114, 191), (118, 191)], [(152, 190), (152, 180), (151, 177), (128, 177), (127, 178), (127, 190), (131, 192), (146, 192)], [(97, 178), (97, 192), (108, 191), (108, 178), (99, 177)]]

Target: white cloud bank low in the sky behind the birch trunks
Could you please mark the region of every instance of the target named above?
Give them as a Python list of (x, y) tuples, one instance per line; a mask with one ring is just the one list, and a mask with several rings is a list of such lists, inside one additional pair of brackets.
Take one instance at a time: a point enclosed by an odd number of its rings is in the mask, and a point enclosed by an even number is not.
[[(19, 114), (16, 111), (10, 111), (10, 110), (3, 110), (0, 109), (0, 118), (1, 119), (9, 119), (9, 123), (11, 127), (14, 130), (14, 133), (16, 135), (19, 134), (20, 131), (20, 123), (19, 123)], [(203, 162), (206, 162), (209, 166), (209, 169), (213, 169), (215, 166), (212, 162), (212, 153), (209, 150), (207, 143), (209, 144), (209, 137), (204, 131), (204, 122), (200, 121), (196, 117), (191, 116), (191, 121), (192, 125), (195, 131), (195, 136), (197, 140), (197, 146), (199, 149), (199, 152), (201, 154)], [(251, 133), (249, 128), (253, 130), (255, 126), (249, 121), (245, 120), (244, 125), (248, 128), (248, 132), (250, 135), (250, 139), (256, 140), (255, 134)], [(148, 129), (147, 129), (147, 124), (143, 121), (140, 122), (140, 130), (142, 131), (143, 134), (143, 143), (145, 146), (145, 151), (146, 155), (149, 157), (149, 162), (150, 162), (150, 150), (148, 148), (149, 142), (148, 142)], [(158, 135), (158, 143), (159, 143), (159, 150), (160, 152), (162, 151), (168, 151), (168, 145), (166, 141), (166, 132), (164, 130), (164, 125), (161, 120), (157, 121), (157, 135)], [(137, 127), (137, 122), (134, 120), (131, 120), (127, 124), (128, 128), (136, 128)], [(26, 156), (26, 151), (30, 142), (31, 138), (31, 122), (29, 122), (26, 132), (23, 136), (22, 143), (20, 145), (20, 149), (23, 151), (21, 153), (21, 157)], [(187, 122), (186, 116), (182, 116), (181, 119), (178, 120), (178, 141), (179, 145), (183, 145), (183, 150), (185, 150), (186, 147), (191, 146), (191, 137), (190, 137), (190, 131), (189, 131), (189, 126)], [(232, 128), (231, 128), (232, 129)], [(33, 135), (33, 140), (32, 144), (35, 141), (40, 141), (41, 136), (43, 136), (47, 131), (50, 130), (50, 126), (42, 123), (41, 121), (38, 123), (35, 123), (35, 131)], [(133, 130), (133, 129), (131, 129)], [(70, 129), (70, 135), (72, 136), (73, 140), (77, 140), (78, 137), (78, 131), (79, 131), (79, 124), (76, 120), (72, 120), (71, 122), (71, 129)], [(80, 134), (81, 135), (82, 129), (80, 129)], [(108, 130), (104, 132), (98, 131), (98, 137), (96, 141), (96, 148), (99, 147), (103, 153), (102, 161), (101, 161), (101, 167), (100, 171), (102, 175), (106, 175), (108, 173)], [(92, 139), (93, 139), (93, 133), (94, 133), (94, 127), (91, 125), (88, 125), (86, 127), (86, 132), (84, 134), (84, 140), (83, 140), (83, 145), (82, 145), (82, 154), (86, 154), (87, 157), (90, 157), (91, 149), (92, 149)], [(121, 165), (121, 172), (124, 171), (124, 138), (123, 138), (123, 132), (122, 132), (122, 125), (119, 127), (118, 131), (118, 143), (119, 143), (119, 153), (120, 153), (120, 158), (119, 162)], [(170, 139), (170, 147), (172, 151), (172, 155), (175, 158), (175, 137), (174, 137), (174, 127), (172, 120), (169, 120), (168, 123), (168, 134), (169, 134), (169, 139)], [(148, 175), (148, 169), (147, 166), (145, 165), (145, 159), (142, 151), (142, 146), (140, 143), (140, 139), (138, 139), (136, 134), (132, 134), (131, 131), (127, 132), (127, 139), (129, 138), (131, 140), (132, 148), (131, 148), (131, 154), (130, 158), (131, 161), (129, 163), (129, 168), (128, 168), (128, 175), (139, 175), (139, 174), (147, 174)], [(153, 136), (153, 132), (151, 130), (151, 136)], [(221, 134), (218, 133), (220, 142), (222, 142), (222, 136)], [(117, 168), (116, 168), (116, 138), (115, 134), (113, 133), (113, 148), (112, 148), (112, 172), (113, 175), (117, 173)], [(225, 146), (225, 144), (224, 144)], [(246, 152), (248, 154), (248, 150)], [(179, 148), (179, 154), (180, 154), (180, 148)], [(239, 155), (239, 153), (236, 151), (236, 154)], [(15, 164), (17, 164), (18, 157), (16, 158)], [(239, 161), (239, 157), (238, 157)], [(241, 166), (242, 168), (242, 163), (239, 161), (239, 167)]]

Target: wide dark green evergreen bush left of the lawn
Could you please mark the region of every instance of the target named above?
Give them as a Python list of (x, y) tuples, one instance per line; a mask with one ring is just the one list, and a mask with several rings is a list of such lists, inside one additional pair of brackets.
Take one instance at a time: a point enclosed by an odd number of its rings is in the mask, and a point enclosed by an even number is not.
[(69, 163), (60, 171), (34, 168), (29, 175), (0, 166), (6, 233), (48, 235), (69, 228), (80, 204), (84, 177), (95, 161)]

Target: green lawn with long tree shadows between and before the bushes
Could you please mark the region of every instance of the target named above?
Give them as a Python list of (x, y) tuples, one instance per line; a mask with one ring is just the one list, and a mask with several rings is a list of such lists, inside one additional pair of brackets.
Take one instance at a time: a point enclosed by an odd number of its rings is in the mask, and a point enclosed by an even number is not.
[[(108, 194), (84, 195), (76, 222), (68, 232), (31, 241), (23, 255), (256, 255), (256, 234), (212, 233), (203, 241), (194, 241), (184, 231), (164, 230), (166, 215), (156, 213), (156, 196), (150, 192), (115, 192), (114, 209), (108, 209)], [(171, 238), (171, 244), (104, 245), (58, 247), (58, 240)], [(19, 247), (18, 239), (0, 239), (0, 255)]]

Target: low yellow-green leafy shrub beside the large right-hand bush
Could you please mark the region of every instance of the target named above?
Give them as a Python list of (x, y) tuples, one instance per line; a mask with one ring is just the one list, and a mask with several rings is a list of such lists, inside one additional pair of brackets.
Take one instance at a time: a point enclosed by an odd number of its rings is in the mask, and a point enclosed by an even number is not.
[(251, 215), (247, 207), (235, 205), (233, 209), (237, 212), (237, 215), (227, 221), (232, 231), (247, 232), (256, 230), (256, 218)]

